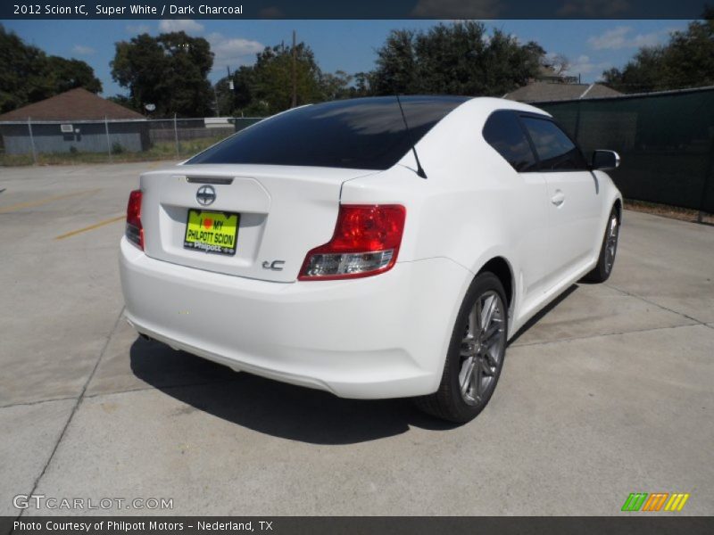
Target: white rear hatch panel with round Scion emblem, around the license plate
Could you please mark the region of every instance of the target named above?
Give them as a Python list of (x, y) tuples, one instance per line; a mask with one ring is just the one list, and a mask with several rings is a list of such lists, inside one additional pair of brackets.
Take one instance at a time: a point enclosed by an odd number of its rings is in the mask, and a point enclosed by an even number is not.
[[(293, 282), (308, 251), (332, 237), (346, 180), (378, 171), (269, 165), (181, 165), (141, 177), (145, 253), (190, 268), (274, 282)], [(199, 188), (215, 200), (203, 206)], [(205, 202), (205, 199), (203, 199)], [(189, 210), (206, 228), (237, 214), (235, 252), (187, 249)], [(211, 212), (220, 216), (212, 217)], [(222, 217), (221, 217), (222, 216)], [(194, 223), (195, 225), (195, 223)]]

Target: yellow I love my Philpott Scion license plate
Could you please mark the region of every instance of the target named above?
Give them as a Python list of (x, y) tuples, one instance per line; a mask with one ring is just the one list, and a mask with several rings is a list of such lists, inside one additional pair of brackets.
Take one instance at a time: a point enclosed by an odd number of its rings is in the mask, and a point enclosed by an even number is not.
[(184, 247), (216, 254), (236, 254), (239, 214), (188, 210)]

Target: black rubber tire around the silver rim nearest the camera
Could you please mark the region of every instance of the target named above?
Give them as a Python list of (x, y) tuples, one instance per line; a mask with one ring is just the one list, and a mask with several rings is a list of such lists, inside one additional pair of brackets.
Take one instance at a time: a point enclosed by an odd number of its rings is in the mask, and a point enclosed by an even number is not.
[[(486, 300), (488, 300), (495, 295), (498, 297), (497, 306), (501, 308), (501, 327), (498, 331), (500, 346), (497, 350), (495, 346), (492, 346), (493, 355), (498, 353), (497, 366), (490, 366), (494, 362), (493, 359), (483, 357), (483, 359), (486, 360), (486, 366), (489, 366), (487, 371), (492, 374), (488, 374), (486, 370), (481, 370), (480, 368), (478, 372), (474, 372), (479, 374), (475, 379), (475, 381), (478, 382), (479, 388), (481, 388), (483, 384), (481, 381), (482, 377), (483, 379), (489, 379), (489, 381), (487, 381), (487, 386), (484, 387), (483, 393), (476, 397), (477, 399), (471, 396), (470, 401), (467, 402), (469, 393), (462, 394), (460, 374), (463, 374), (463, 377), (466, 377), (468, 374), (463, 369), (463, 366), (467, 365), (466, 367), (468, 368), (467, 361), (469, 357), (465, 356), (464, 353), (469, 353), (469, 350), (465, 348), (471, 348), (469, 342), (467, 342), (470, 328), (469, 318), (472, 313), (475, 313), (477, 300), (483, 300), (485, 296)], [(473, 420), (484, 410), (494, 393), (498, 378), (501, 376), (503, 358), (505, 357), (506, 337), (508, 333), (508, 305), (506, 303), (503, 285), (497, 276), (490, 272), (481, 273), (476, 276), (469, 287), (469, 291), (466, 293), (463, 303), (461, 303), (461, 309), (456, 318), (456, 325), (453, 327), (452, 339), (446, 355), (444, 373), (442, 374), (439, 389), (428, 396), (415, 398), (414, 402), (419, 409), (431, 416), (436, 416), (437, 418), (456, 424), (465, 424)], [(483, 305), (481, 305), (481, 307), (483, 309)], [(493, 312), (493, 316), (494, 315), (495, 311)], [(494, 325), (496, 324), (494, 323)], [(489, 325), (486, 325), (486, 329), (481, 329), (481, 332), (484, 333), (484, 331), (488, 331), (488, 327)], [(484, 334), (487, 335), (488, 333)], [(481, 333), (478, 334), (479, 344), (480, 340)], [(474, 343), (474, 346), (475, 345), (476, 343)], [(476, 353), (476, 355), (470, 358), (476, 361), (477, 351), (474, 350), (474, 353)], [(481, 373), (484, 375), (480, 375)], [(467, 380), (465, 383), (469, 383), (469, 381)]]

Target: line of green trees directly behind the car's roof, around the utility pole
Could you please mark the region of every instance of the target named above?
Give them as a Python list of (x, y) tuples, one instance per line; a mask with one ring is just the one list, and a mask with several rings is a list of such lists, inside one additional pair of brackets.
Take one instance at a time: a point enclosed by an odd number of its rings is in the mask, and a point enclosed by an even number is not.
[[(278, 45), (217, 85), (221, 113), (268, 115), (292, 105), (292, 53)], [(394, 30), (377, 51), (376, 69), (348, 74), (320, 70), (309, 46), (295, 46), (297, 105), (366, 95), (503, 95), (534, 78), (545, 51), (520, 45), (500, 30), (486, 35), (479, 22), (439, 24), (426, 32)]]

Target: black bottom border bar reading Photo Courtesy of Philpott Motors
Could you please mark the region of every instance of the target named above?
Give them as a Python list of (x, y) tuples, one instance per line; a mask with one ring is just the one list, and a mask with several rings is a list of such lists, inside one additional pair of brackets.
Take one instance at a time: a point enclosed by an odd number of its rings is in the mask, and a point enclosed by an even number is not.
[[(17, 524), (21, 523), (21, 524)], [(112, 524), (114, 523), (114, 524)], [(152, 523), (155, 523), (152, 524)], [(200, 529), (201, 523), (211, 526)], [(62, 529), (65, 524), (76, 529)], [(82, 524), (91, 524), (82, 529)], [(223, 525), (221, 525), (223, 524)], [(217, 529), (216, 529), (217, 528)], [(674, 535), (714, 532), (714, 517), (671, 514), (618, 516), (23, 516), (0, 517), (0, 534), (167, 535), (262, 533), (263, 535)]]

